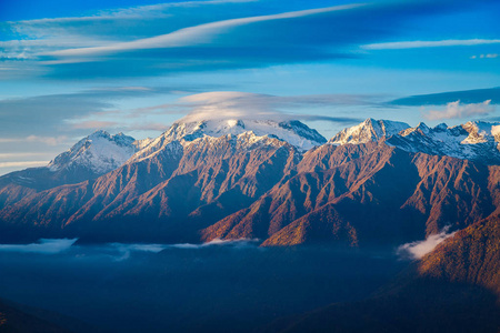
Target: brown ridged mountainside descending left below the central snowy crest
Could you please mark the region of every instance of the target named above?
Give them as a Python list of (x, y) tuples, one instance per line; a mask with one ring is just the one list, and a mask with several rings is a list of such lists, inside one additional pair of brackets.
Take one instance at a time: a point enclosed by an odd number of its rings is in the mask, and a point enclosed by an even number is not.
[(11, 238), (18, 228), (32, 238), (196, 241), (199, 229), (248, 206), (298, 161), (294, 148), (272, 138), (173, 141), (96, 181), (27, 196), (1, 210), (0, 219)]

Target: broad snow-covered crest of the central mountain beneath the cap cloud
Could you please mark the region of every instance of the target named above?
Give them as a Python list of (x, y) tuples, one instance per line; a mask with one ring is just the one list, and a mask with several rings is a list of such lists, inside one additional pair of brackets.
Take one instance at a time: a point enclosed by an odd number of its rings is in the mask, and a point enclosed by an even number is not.
[[(252, 133), (249, 135), (248, 133)], [(172, 141), (181, 141), (183, 145), (192, 141), (204, 138), (220, 138), (223, 135), (234, 135), (258, 141), (274, 138), (286, 141), (300, 151), (307, 151), (313, 147), (321, 145), (327, 140), (316, 130), (310, 129), (300, 121), (272, 121), (272, 120), (201, 120), (176, 122), (170, 129), (159, 138), (151, 141), (149, 145), (136, 153), (130, 161), (141, 160), (153, 155)], [(244, 134), (244, 135), (243, 135)], [(251, 145), (251, 142), (249, 142)]]

